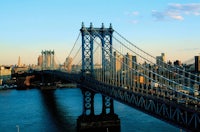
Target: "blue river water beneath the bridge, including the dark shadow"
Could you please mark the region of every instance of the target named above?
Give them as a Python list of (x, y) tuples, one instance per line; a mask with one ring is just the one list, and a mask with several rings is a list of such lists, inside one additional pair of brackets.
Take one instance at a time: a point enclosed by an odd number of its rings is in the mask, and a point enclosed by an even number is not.
[[(100, 114), (101, 95), (95, 95), (95, 114)], [(180, 129), (114, 101), (121, 132), (179, 132)], [(79, 88), (42, 92), (30, 90), (0, 91), (0, 132), (74, 132), (82, 114)]]

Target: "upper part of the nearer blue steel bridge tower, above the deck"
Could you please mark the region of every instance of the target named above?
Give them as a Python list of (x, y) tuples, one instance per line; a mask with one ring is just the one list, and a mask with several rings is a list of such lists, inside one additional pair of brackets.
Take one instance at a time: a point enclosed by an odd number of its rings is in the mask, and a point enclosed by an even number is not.
[(94, 39), (98, 37), (101, 40), (102, 46), (102, 69), (109, 71), (111, 69), (111, 54), (112, 54), (112, 34), (113, 29), (110, 24), (109, 28), (105, 28), (102, 23), (101, 28), (94, 28), (92, 23), (90, 27), (85, 27), (82, 23), (80, 29), (82, 35), (82, 72), (84, 74), (94, 75), (93, 63), (93, 47)]

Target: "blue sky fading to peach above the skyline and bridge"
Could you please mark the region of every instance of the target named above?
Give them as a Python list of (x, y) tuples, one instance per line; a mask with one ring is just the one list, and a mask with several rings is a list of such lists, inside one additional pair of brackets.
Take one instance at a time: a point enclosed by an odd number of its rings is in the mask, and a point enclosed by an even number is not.
[(182, 62), (200, 55), (199, 0), (0, 0), (0, 65), (36, 64), (42, 50), (62, 63), (81, 28), (109, 26), (146, 52)]

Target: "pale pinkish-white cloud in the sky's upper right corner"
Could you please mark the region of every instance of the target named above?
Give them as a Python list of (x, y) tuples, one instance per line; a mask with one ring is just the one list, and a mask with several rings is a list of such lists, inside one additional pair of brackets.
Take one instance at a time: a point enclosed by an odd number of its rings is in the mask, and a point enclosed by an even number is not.
[(200, 3), (169, 4), (164, 11), (152, 10), (155, 20), (184, 20), (186, 15), (200, 16)]

